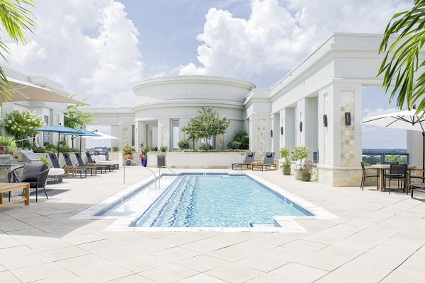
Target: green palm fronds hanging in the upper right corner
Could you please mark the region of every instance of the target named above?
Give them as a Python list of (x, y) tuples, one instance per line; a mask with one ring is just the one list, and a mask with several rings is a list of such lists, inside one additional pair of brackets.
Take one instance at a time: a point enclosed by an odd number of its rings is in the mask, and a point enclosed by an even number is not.
[[(397, 35), (389, 43), (390, 36)], [(425, 109), (425, 74), (417, 77), (418, 70), (425, 65), (419, 62), (419, 53), (425, 42), (425, 0), (414, 0), (410, 11), (396, 13), (385, 29), (379, 52), (386, 52), (378, 76), (384, 74), (382, 89), (390, 93), (390, 101), (397, 95), (397, 107), (402, 109), (404, 101), (410, 110), (414, 104), (417, 112)], [(389, 45), (390, 44), (390, 45)], [(391, 53), (391, 54), (390, 54)]]

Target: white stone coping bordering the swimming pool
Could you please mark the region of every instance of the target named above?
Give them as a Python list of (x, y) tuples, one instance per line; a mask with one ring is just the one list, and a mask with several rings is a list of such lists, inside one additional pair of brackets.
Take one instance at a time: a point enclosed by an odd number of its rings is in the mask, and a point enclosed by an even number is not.
[[(176, 172), (176, 173), (182, 173), (182, 172)], [(184, 172), (184, 173), (191, 173), (191, 172)], [(204, 172), (196, 172), (197, 174), (203, 174)], [(205, 172), (205, 174), (210, 174)], [(135, 219), (137, 219), (142, 212), (144, 212), (152, 202), (154, 202), (157, 198), (155, 197), (152, 200), (146, 200), (147, 207), (143, 207), (139, 212), (135, 212), (128, 216), (97, 216), (98, 212), (101, 212), (102, 210), (106, 209), (106, 207), (111, 206), (113, 202), (116, 202), (117, 200), (120, 200), (120, 198), (123, 198), (124, 196), (134, 192), (139, 187), (149, 185), (149, 183), (154, 182), (154, 176), (151, 176), (149, 178), (146, 178), (138, 183), (135, 183), (134, 185), (130, 185), (129, 187), (126, 187), (124, 190), (121, 190), (120, 192), (115, 193), (114, 195), (111, 195), (111, 197), (107, 197), (105, 200), (102, 200), (101, 202), (98, 202), (97, 204), (92, 205), (91, 207), (84, 209), (82, 212), (79, 212), (79, 214), (76, 214), (70, 219), (91, 219), (91, 220), (115, 220), (110, 226), (106, 228), (108, 231), (174, 231), (174, 232), (199, 232), (199, 231), (215, 231), (215, 232), (295, 232), (295, 233), (302, 233), (306, 232), (306, 230), (300, 225), (297, 224), (295, 221), (296, 219), (337, 219), (338, 217), (334, 214), (331, 214), (330, 212), (327, 212), (326, 210), (322, 209), (321, 207), (317, 207), (316, 205), (312, 204), (311, 202), (308, 202), (307, 200), (302, 199), (301, 197), (298, 197), (297, 195), (294, 195), (291, 192), (288, 192), (287, 190), (284, 190), (282, 187), (279, 187), (278, 185), (274, 185), (273, 183), (268, 182), (267, 180), (264, 180), (263, 178), (260, 178), (257, 175), (254, 175), (252, 173), (234, 173), (234, 172), (227, 172), (227, 173), (220, 173), (220, 174), (228, 174), (228, 175), (247, 175), (249, 178), (255, 180), (256, 182), (261, 183), (262, 185), (268, 187), (270, 190), (273, 190), (273, 192), (276, 192), (278, 195), (281, 195), (282, 197), (285, 197), (286, 199), (290, 200), (294, 204), (297, 204), (298, 206), (302, 207), (302, 209), (307, 210), (308, 212), (311, 212), (312, 216), (273, 216), (273, 219), (276, 224), (278, 224), (280, 227), (269, 227), (269, 226), (254, 226), (254, 227), (135, 227), (130, 226)], [(169, 175), (166, 173), (162, 173), (158, 176), (160, 178), (161, 176)], [(143, 189), (145, 190), (145, 189)], [(164, 189), (165, 190), (165, 189)]]

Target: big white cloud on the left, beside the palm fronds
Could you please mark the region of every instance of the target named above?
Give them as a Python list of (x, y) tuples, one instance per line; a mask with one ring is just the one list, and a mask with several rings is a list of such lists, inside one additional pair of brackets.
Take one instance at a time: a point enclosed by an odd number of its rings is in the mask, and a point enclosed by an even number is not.
[(132, 105), (131, 86), (142, 76), (137, 28), (113, 0), (37, 1), (38, 21), (28, 44), (10, 44), (8, 61), (89, 97), (96, 106)]

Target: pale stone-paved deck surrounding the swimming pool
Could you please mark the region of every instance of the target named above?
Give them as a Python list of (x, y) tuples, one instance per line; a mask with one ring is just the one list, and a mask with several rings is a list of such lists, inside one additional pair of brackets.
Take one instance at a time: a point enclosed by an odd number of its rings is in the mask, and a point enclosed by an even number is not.
[(307, 232), (287, 233), (110, 231), (114, 220), (69, 219), (151, 175), (125, 168), (123, 185), (120, 168), (1, 207), (0, 282), (424, 282), (425, 202), (254, 174), (339, 218), (297, 219)]

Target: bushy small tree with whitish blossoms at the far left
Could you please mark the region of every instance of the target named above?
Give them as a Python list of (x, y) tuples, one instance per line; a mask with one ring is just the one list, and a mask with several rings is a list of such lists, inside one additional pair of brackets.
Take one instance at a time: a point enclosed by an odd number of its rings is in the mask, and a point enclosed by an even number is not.
[(45, 127), (45, 122), (41, 116), (37, 117), (35, 112), (13, 110), (6, 113), (1, 127), (4, 127), (6, 132), (16, 140), (20, 140), (26, 139), (26, 137), (33, 137), (38, 133), (34, 129)]

